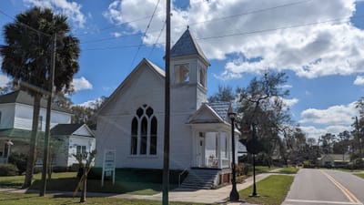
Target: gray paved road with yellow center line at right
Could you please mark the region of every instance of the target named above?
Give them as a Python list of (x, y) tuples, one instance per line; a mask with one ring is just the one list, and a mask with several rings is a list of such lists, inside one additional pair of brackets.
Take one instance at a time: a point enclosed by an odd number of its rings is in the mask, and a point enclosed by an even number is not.
[(362, 205), (364, 179), (329, 169), (299, 170), (282, 205)]

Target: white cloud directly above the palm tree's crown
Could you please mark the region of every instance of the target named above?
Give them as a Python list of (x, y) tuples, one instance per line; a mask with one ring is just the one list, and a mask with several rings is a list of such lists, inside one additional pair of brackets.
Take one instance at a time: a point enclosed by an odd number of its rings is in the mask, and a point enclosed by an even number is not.
[(81, 12), (82, 5), (68, 0), (23, 0), (26, 4), (39, 7), (47, 7), (57, 13), (66, 15), (76, 26), (83, 27), (86, 23), (86, 15)]

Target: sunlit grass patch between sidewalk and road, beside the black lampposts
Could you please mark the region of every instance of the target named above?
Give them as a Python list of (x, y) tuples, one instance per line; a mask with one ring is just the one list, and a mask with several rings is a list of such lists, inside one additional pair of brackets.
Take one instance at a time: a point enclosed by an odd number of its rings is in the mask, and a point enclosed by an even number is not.
[(240, 198), (248, 203), (261, 205), (279, 205), (286, 199), (286, 195), (293, 182), (293, 176), (286, 175), (271, 175), (266, 179), (262, 179), (257, 183), (257, 192), (259, 198), (249, 198), (253, 187), (240, 190)]

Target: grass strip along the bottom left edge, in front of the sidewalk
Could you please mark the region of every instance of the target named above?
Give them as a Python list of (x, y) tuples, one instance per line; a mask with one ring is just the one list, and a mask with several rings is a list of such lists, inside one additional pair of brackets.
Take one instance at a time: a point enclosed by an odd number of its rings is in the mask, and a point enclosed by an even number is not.
[[(47, 195), (44, 198), (40, 198), (38, 194), (21, 194), (21, 193), (8, 193), (0, 192), (0, 204), (6, 205), (70, 205), (78, 204), (79, 198), (70, 198), (64, 196), (53, 196)], [(154, 200), (125, 200), (116, 198), (105, 198), (105, 197), (95, 197), (86, 198), (86, 204), (93, 205), (159, 205), (160, 201)], [(195, 205), (194, 203), (187, 202), (176, 202), (170, 203), (173, 205)]]

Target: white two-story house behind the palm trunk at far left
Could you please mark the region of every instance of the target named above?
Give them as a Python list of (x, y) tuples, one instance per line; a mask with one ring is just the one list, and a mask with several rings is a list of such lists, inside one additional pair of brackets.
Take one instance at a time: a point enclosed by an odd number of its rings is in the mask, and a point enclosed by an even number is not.
[[(33, 104), (33, 97), (22, 90), (0, 96), (0, 163), (5, 163), (10, 153), (28, 153), (33, 122)], [(44, 98), (42, 98), (40, 106), (38, 136), (44, 136), (46, 114), (46, 100)], [(61, 108), (56, 103), (53, 104), (51, 128), (58, 124), (70, 124), (72, 115), (68, 109)], [(88, 142), (89, 139), (84, 138), (82, 140)], [(13, 144), (12, 146), (8, 145), (10, 141)], [(95, 147), (95, 140), (93, 146)], [(67, 158), (73, 157), (69, 156)], [(70, 161), (70, 159), (67, 159), (67, 161)], [(62, 166), (66, 165), (68, 163), (62, 164)]]

